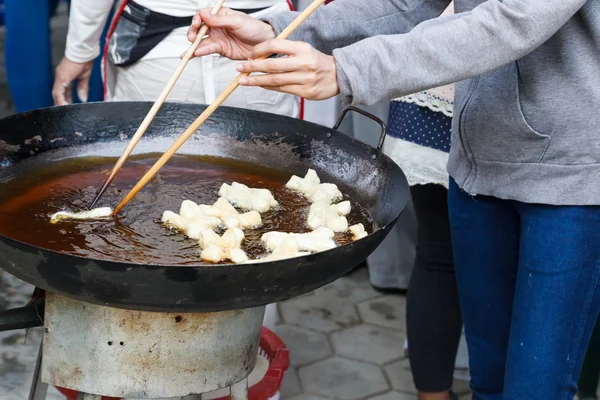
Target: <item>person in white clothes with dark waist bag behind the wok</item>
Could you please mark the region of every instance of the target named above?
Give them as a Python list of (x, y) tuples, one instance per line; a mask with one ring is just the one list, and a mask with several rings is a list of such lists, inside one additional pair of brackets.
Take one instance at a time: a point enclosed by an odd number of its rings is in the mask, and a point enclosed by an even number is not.
[[(65, 57), (56, 69), (55, 104), (69, 103), (67, 86), (87, 74), (100, 54), (102, 26), (114, 5), (117, 12), (104, 60), (106, 99), (155, 101), (190, 45), (187, 27), (192, 16), (198, 7), (213, 4), (213, 0), (71, 0)], [(256, 18), (290, 9), (287, 0), (231, 0), (226, 5)], [(167, 100), (209, 104), (237, 76), (235, 65), (216, 55), (192, 59)], [(240, 87), (224, 105), (300, 114), (298, 97), (261, 88)]]

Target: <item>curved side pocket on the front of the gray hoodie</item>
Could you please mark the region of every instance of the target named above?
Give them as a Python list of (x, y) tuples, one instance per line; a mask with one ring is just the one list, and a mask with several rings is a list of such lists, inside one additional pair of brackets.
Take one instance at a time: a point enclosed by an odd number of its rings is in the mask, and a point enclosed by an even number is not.
[(519, 101), (516, 63), (482, 76), (461, 118), (461, 136), (475, 160), (537, 163), (550, 136), (525, 120)]

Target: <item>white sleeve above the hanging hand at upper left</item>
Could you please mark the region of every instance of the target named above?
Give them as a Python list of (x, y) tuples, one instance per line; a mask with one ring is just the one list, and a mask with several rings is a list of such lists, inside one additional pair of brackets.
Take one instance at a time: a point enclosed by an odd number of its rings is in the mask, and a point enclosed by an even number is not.
[(100, 36), (113, 0), (71, 0), (65, 57), (88, 62), (100, 55)]

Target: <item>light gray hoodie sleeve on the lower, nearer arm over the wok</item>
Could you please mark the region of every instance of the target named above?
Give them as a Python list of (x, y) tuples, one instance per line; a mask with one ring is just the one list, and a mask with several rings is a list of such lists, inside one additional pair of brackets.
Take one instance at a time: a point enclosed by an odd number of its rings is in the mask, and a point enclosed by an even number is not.
[(404, 35), (337, 49), (333, 55), (343, 100), (374, 104), (492, 71), (542, 45), (586, 1), (488, 0)]

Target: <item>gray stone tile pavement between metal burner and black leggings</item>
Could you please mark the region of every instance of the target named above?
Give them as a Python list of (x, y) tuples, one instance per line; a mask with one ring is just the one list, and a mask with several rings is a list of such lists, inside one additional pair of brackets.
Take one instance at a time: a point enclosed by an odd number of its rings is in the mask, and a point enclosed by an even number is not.
[[(365, 268), (279, 304), (290, 348), (284, 400), (414, 400), (404, 356), (405, 298), (371, 288)], [(468, 383), (455, 381), (468, 398)]]

